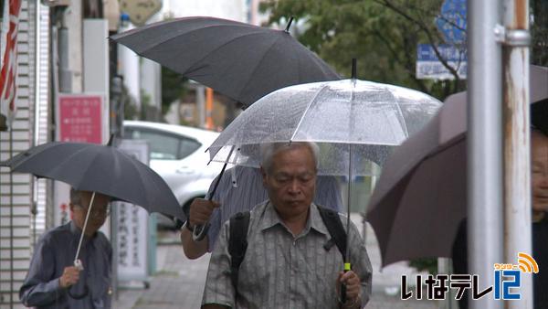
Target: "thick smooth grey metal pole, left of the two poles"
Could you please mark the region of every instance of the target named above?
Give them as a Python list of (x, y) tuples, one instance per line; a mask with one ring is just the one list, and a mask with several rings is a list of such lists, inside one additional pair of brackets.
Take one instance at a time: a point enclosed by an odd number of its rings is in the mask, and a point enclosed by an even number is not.
[[(469, 0), (468, 246), (469, 272), (479, 289), (492, 286), (493, 263), (502, 261), (501, 22), (497, 0)], [(491, 297), (469, 299), (470, 308), (501, 309)]]

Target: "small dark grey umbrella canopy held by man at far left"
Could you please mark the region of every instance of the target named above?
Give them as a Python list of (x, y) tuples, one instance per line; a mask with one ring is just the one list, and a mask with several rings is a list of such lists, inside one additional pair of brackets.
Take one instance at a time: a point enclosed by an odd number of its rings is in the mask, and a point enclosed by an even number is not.
[(0, 163), (12, 172), (59, 180), (184, 220), (183, 209), (162, 177), (109, 145), (52, 142)]

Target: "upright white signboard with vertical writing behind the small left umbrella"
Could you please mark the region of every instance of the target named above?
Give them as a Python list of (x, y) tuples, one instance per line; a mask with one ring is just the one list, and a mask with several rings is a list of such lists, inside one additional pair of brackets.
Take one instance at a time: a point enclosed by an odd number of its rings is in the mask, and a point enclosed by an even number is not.
[[(124, 140), (121, 151), (148, 165), (149, 149), (144, 141)], [(139, 206), (116, 202), (113, 229), (116, 235), (114, 261), (118, 281), (147, 281), (148, 277), (148, 212)]]

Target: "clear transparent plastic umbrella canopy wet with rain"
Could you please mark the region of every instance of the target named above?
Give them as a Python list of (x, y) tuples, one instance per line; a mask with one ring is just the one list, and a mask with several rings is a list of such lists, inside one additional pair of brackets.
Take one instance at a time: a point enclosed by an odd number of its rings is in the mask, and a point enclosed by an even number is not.
[(320, 145), (321, 175), (374, 175), (391, 147), (432, 117), (441, 102), (419, 91), (364, 80), (337, 80), (275, 91), (242, 112), (209, 147), (212, 160), (259, 165), (258, 145), (312, 141)]

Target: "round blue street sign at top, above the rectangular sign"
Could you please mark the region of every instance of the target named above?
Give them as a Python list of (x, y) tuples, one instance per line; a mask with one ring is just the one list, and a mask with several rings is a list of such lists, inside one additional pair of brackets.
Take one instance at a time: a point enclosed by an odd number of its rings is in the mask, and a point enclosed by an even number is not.
[(466, 43), (466, 0), (445, 0), (436, 18), (437, 29), (446, 43)]

